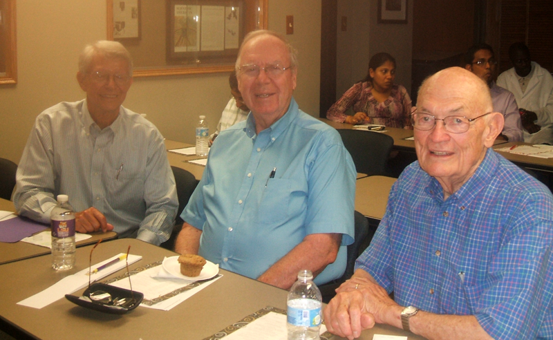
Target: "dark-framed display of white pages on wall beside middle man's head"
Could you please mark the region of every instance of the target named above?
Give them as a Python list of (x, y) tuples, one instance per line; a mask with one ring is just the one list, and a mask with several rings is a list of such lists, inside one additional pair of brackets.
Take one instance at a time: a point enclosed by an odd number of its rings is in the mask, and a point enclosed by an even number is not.
[(232, 63), (243, 39), (243, 0), (168, 0), (167, 62)]

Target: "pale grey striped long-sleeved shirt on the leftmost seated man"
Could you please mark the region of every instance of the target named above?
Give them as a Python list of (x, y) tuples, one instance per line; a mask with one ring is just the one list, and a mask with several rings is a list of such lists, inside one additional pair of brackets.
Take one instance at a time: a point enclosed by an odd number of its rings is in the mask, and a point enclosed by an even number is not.
[(19, 214), (49, 223), (60, 193), (69, 196), (75, 211), (102, 212), (120, 237), (156, 245), (169, 238), (178, 208), (156, 126), (121, 106), (117, 119), (100, 130), (86, 100), (41, 113), (17, 168)]

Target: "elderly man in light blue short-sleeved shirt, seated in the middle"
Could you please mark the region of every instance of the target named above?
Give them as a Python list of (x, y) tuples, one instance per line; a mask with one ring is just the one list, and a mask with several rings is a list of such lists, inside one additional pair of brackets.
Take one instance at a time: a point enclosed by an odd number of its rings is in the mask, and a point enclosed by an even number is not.
[(284, 289), (302, 269), (319, 284), (339, 278), (354, 236), (353, 160), (337, 131), (293, 100), (296, 64), (280, 35), (245, 37), (236, 69), (252, 112), (215, 140), (176, 242)]

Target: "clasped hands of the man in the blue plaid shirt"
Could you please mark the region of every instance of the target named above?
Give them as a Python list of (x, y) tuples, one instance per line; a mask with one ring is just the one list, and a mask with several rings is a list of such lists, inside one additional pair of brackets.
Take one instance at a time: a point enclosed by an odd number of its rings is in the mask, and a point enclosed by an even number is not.
[[(403, 309), (371, 278), (353, 276), (336, 292), (324, 309), (326, 328), (350, 340), (359, 337), (362, 330), (373, 328), (375, 323), (394, 324), (390, 322), (394, 309), (399, 312)], [(400, 319), (398, 321), (401, 323)]]

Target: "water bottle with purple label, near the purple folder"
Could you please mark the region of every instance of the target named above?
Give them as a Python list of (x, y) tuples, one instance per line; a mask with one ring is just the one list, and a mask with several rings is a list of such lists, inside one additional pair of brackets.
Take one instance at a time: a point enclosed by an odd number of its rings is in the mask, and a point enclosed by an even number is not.
[(75, 212), (67, 195), (57, 196), (57, 205), (50, 214), (52, 227), (52, 267), (70, 270), (75, 265)]

